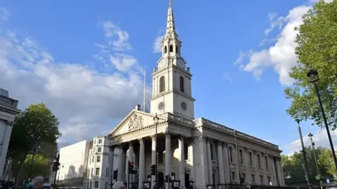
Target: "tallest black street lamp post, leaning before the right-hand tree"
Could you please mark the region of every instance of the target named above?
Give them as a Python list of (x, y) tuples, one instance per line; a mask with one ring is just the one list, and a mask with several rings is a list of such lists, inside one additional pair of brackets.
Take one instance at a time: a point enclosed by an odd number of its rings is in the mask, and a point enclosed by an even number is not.
[(322, 117), (323, 117), (323, 120), (324, 120), (326, 134), (328, 134), (328, 138), (329, 138), (329, 142), (330, 142), (330, 146), (331, 146), (331, 153), (332, 153), (332, 156), (333, 156), (333, 161), (335, 162), (335, 167), (337, 169), (336, 153), (335, 153), (335, 149), (333, 148), (333, 143), (332, 143), (332, 139), (331, 139), (331, 135), (330, 135), (330, 130), (329, 130), (328, 122), (326, 121), (326, 117), (325, 117), (325, 113), (324, 113), (324, 108), (323, 108), (321, 96), (319, 94), (319, 90), (318, 90), (318, 86), (317, 86), (317, 81), (319, 80), (318, 71), (316, 71), (315, 69), (310, 69), (310, 71), (307, 73), (307, 77), (308, 77), (309, 83), (313, 83), (314, 87), (315, 87), (315, 91), (316, 91), (316, 94), (317, 94), (317, 99), (318, 99), (318, 102), (319, 102), (319, 107), (321, 108), (321, 111), (322, 111)]

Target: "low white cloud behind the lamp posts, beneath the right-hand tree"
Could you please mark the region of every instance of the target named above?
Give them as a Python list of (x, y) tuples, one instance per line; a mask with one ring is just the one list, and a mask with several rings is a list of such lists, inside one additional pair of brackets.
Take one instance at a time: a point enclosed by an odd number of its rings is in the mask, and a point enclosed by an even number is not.
[[(308, 137), (308, 134), (303, 134), (303, 144), (304, 146), (311, 146), (310, 138)], [(337, 144), (337, 130), (330, 131), (331, 139), (333, 141), (333, 146), (336, 146)], [(316, 134), (313, 134), (312, 141), (315, 142), (315, 146), (322, 146), (324, 148), (330, 149), (329, 139), (326, 134), (326, 130), (322, 130), (317, 132)], [(302, 150), (302, 146), (300, 144), (300, 139), (291, 142), (291, 144), (287, 145), (286, 150), (289, 151), (289, 155), (293, 154), (294, 152), (298, 152)]]

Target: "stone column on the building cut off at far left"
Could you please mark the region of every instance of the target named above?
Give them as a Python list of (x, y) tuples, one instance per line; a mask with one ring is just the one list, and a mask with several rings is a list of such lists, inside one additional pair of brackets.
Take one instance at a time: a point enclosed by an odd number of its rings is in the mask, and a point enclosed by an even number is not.
[[(1, 121), (1, 120), (0, 120)], [(2, 174), (4, 173), (4, 166), (6, 162), (6, 155), (8, 151), (8, 144), (11, 139), (11, 133), (13, 130), (13, 122), (11, 121), (5, 121), (6, 122), (6, 129), (4, 132), (4, 141), (2, 144), (2, 149), (0, 149), (0, 178), (2, 177)]]

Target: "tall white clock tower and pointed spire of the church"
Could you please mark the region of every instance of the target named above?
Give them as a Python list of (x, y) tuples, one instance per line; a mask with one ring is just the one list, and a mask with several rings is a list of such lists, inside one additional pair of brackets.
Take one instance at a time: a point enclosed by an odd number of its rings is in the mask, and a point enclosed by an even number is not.
[(173, 113), (194, 119), (190, 68), (181, 57), (181, 41), (174, 25), (171, 2), (166, 34), (161, 40), (161, 57), (152, 73), (151, 113)]

